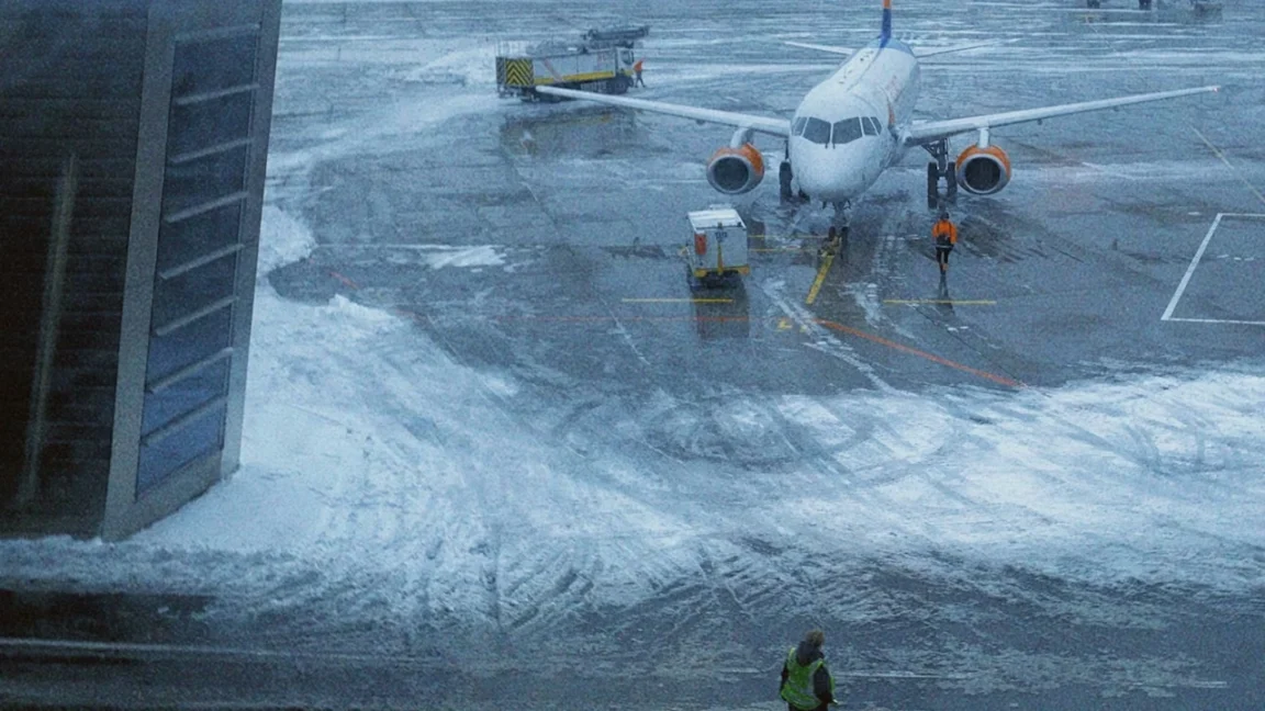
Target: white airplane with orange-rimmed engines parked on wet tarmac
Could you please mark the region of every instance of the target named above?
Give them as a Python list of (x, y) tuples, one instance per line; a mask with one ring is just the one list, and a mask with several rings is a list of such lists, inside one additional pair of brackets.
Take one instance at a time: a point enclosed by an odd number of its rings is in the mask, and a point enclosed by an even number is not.
[[(716, 151), (707, 162), (707, 181), (726, 195), (754, 190), (764, 177), (764, 158), (751, 143), (754, 134), (782, 137), (786, 139), (786, 159), (778, 171), (782, 197), (789, 199), (797, 189), (803, 199), (834, 204), (836, 218), (846, 224), (846, 210), (851, 201), (874, 185), (883, 170), (898, 163), (912, 147), (922, 147), (935, 158), (927, 164), (927, 205), (935, 207), (941, 200), (941, 180), (946, 186), (945, 199), (950, 202), (956, 199), (959, 185), (977, 195), (992, 195), (1006, 187), (1011, 180), (1011, 159), (999, 145), (989, 140), (989, 132), (997, 127), (1219, 89), (1202, 86), (1002, 114), (915, 121), (912, 115), (918, 96), (918, 58), (980, 46), (930, 52), (911, 49), (892, 37), (892, 0), (883, 0), (883, 29), (878, 39), (861, 49), (798, 42), (787, 44), (848, 56), (830, 78), (803, 97), (789, 121), (553, 86), (539, 86), (536, 91), (735, 127), (729, 145)], [(956, 161), (949, 161), (949, 138), (970, 132), (978, 134), (975, 143), (963, 151)]]

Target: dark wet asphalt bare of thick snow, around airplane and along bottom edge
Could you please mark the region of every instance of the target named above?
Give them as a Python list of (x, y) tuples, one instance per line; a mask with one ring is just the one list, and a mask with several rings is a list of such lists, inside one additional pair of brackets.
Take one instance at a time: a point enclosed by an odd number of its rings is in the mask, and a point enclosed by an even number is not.
[[(517, 416), (591, 436), (601, 436), (605, 409), (635, 409), (662, 391), (724, 407), (735, 392), (1008, 392), (1259, 363), (1265, 219), (1245, 215), (1265, 213), (1256, 192), (1265, 152), (1259, 132), (1246, 128), (1265, 119), (1262, 57), (1252, 53), (1265, 13), (1227, 3), (1228, 20), (1209, 23), (1175, 11), (1088, 13), (1070, 0), (955, 3), (947, 16), (939, 4), (906, 5), (897, 30), (915, 43), (1012, 40), (929, 61), (926, 118), (1211, 82), (1226, 91), (996, 132), (1016, 166), (1013, 182), (993, 197), (960, 197), (963, 242), (944, 281), (927, 237), (918, 152), (856, 205), (849, 240), (829, 258), (818, 247), (830, 211), (781, 204), (775, 180), (767, 180), (732, 201), (749, 228), (750, 277), (696, 291), (681, 258), (686, 213), (725, 202), (702, 172), (727, 140), (724, 128), (579, 104), (483, 105), (478, 97), (492, 87), (459, 65), (412, 71), (416, 42), (468, 49), (500, 37), (571, 33), (574, 18), (611, 18), (610, 9), (290, 4), (272, 152), (310, 159), (275, 162), (268, 200), (301, 215), (319, 245), (268, 278), (295, 301), (344, 295), (393, 310), (457, 361), (512, 373), (524, 385), (506, 400)], [(650, 3), (636, 18), (654, 32), (650, 86), (638, 95), (787, 115), (831, 63), (775, 40), (855, 44), (875, 18), (868, 8), (835, 11), (811, 0)], [(382, 35), (398, 39), (363, 39)], [(328, 148), (331, 128), (358, 130), (382, 101), (443, 109), (454, 96), (472, 97), (478, 110), (428, 123), (406, 140), (340, 134), (344, 147)], [(781, 145), (760, 147), (775, 164)], [(436, 245), (491, 247), (500, 263), (436, 268), (444, 253)], [(764, 463), (741, 443), (729, 443), (725, 455)], [(846, 707), (1265, 705), (1261, 597), (1141, 583), (1097, 588), (1012, 568), (978, 574), (989, 590), (1022, 595), (946, 590), (877, 562), (840, 572), (848, 595), (874, 591), (893, 610), (922, 611), (844, 628), (832, 654), (861, 669), (846, 679)], [(171, 616), (157, 612), (171, 607), (161, 601), (135, 605), (130, 620), (82, 636), (142, 643), (143, 620)], [(578, 622), (589, 630), (586, 644), (606, 639), (608, 649), (559, 653), (565, 643), (553, 640), (541, 648), (548, 662), (540, 650), (493, 640), (472, 652), (479, 664), (426, 645), (406, 658), (374, 657), (372, 645), (354, 658), (262, 658), (197, 649), (83, 657), (3, 644), (0, 663), (6, 679), (23, 684), (10, 698), (28, 701), (773, 708), (753, 701), (775, 689), (777, 664), (762, 668), (758, 653), (812, 622), (769, 622), (741, 605), (729, 619), (688, 624), (649, 605), (621, 615)], [(218, 638), (196, 620), (163, 629), (163, 641)], [(657, 639), (706, 657), (700, 650), (717, 636), (753, 652), (702, 663), (710, 669), (702, 678), (655, 659)], [(949, 662), (963, 657), (997, 662), (977, 671)], [(1121, 681), (1149, 665), (1165, 669), (1166, 682)], [(932, 673), (891, 673), (911, 667)]]

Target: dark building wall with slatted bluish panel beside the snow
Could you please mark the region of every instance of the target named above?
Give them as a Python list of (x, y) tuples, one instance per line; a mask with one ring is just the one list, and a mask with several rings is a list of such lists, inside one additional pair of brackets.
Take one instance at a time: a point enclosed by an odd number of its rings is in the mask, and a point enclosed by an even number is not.
[(237, 462), (280, 1), (0, 8), (0, 534)]

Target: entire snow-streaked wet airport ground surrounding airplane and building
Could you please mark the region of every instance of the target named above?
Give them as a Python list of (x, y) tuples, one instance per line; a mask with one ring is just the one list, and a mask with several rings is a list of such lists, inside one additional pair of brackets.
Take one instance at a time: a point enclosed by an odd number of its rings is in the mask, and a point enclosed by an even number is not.
[[(210, 631), (191, 644), (363, 654), (388, 679), (417, 659), (436, 678), (474, 677), (428, 687), (435, 707), (774, 708), (784, 646), (812, 625), (827, 631), (850, 707), (1265, 703), (1265, 328), (1174, 335), (1164, 329), (1185, 326), (1161, 326), (1152, 307), (1212, 214), (1265, 213), (1243, 189), (1265, 183), (1265, 157), (1231, 130), (1261, 125), (1250, 97), (1262, 96), (1254, 28), (1265, 13), (1227, 6), (1247, 20), (1138, 23), (1135, 34), (1069, 25), (1059, 3), (898, 0), (898, 33), (929, 44), (1042, 38), (1016, 61), (994, 49), (947, 62), (942, 86), (927, 80), (927, 111), (1150, 90), (1136, 82), (1151, 68), (1171, 86), (1216, 78), (1227, 83), (1221, 114), (1180, 115), (1219, 116), (1204, 129), (1230, 166), (1183, 143), (1182, 125), (1164, 140), (1052, 123), (1016, 133), (1012, 154), (1027, 161), (998, 199), (964, 197), (978, 242), (955, 264), (972, 275), (955, 292), (990, 288), (999, 305), (945, 314), (883, 306), (920, 295), (926, 269), (906, 237), (925, 219), (911, 158), (859, 214), (884, 237), (858, 244), (846, 282), (811, 310), (815, 266), (770, 256), (748, 281), (743, 330), (713, 340), (691, 312), (621, 311), (619, 295), (682, 280), (670, 259), (616, 248), (641, 249), (644, 237), (673, 253), (678, 206), (715, 200), (684, 163), (725, 133), (498, 102), (493, 33), (610, 11), (520, 5), (287, 5), (242, 469), (124, 543), (3, 541), (0, 581), (209, 596), (199, 622)], [(732, 5), (644, 8), (664, 65), (648, 78), (669, 87), (655, 97), (784, 110), (816, 76), (797, 65), (820, 57), (792, 61), (759, 40), (855, 43), (877, 16), (850, 9), (844, 29), (829, 4), (769, 16)], [(801, 20), (811, 32), (794, 32)], [(763, 70), (711, 95), (731, 68), (708, 65), (726, 51), (710, 43), (731, 32), (749, 39), (740, 59)], [(1173, 35), (1194, 49), (1154, 48)], [(1085, 47), (1093, 71), (1068, 68)], [(984, 92), (998, 82), (1013, 90)], [(572, 111), (592, 125), (577, 129)], [(529, 113), (535, 123), (520, 123)], [(515, 143), (525, 130), (539, 153)], [(674, 133), (657, 140), (662, 130)], [(531, 195), (471, 207), (426, 192), (453, 186)], [(770, 235), (821, 220), (781, 213), (774, 190), (743, 205)], [(655, 201), (620, 197), (630, 194)], [(1155, 215), (1160, 226), (1137, 226)], [(1068, 258), (1032, 244), (1095, 223), (1117, 225), (1123, 252), (1082, 264), (1097, 249), (1088, 238), (1068, 237)], [(1245, 268), (1265, 263), (1265, 249), (1242, 244), (1227, 249), (1256, 259)], [(559, 264), (583, 269), (583, 287), (534, 291), (534, 278), (579, 273)], [(1066, 283), (1028, 278), (1047, 269)], [(1245, 281), (1226, 288), (1259, 288), (1256, 273), (1231, 272)], [(1099, 290), (1104, 304), (1090, 299)], [(583, 311), (581, 292), (600, 307)], [(1192, 304), (1233, 307), (1198, 294)], [(872, 331), (910, 345), (894, 352)], [(1050, 334), (1060, 343), (1034, 345)], [(725, 358), (750, 364), (727, 383), (681, 364)], [(528, 681), (506, 683), (511, 672)], [(417, 691), (258, 681), (231, 693), (407, 706)]]

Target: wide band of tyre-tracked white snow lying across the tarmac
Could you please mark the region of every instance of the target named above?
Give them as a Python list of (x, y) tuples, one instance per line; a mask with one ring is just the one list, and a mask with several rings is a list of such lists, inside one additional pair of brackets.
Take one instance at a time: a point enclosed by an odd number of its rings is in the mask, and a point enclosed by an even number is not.
[[(280, 210), (264, 223), (272, 267), (312, 244)], [(507, 402), (525, 386), (453, 362), (402, 315), (292, 304), (264, 281), (254, 318), (240, 472), (124, 544), (0, 543), (9, 576), (231, 593), (295, 620), (498, 625), (636, 605), (716, 567), (791, 586), (774, 597), (793, 606), (810, 560), (1265, 584), (1259, 371), (726, 396), (708, 416), (660, 391), (554, 431)], [(677, 457), (654, 445), (663, 428), (791, 455), (760, 471)], [(932, 563), (942, 553), (964, 563)]]

